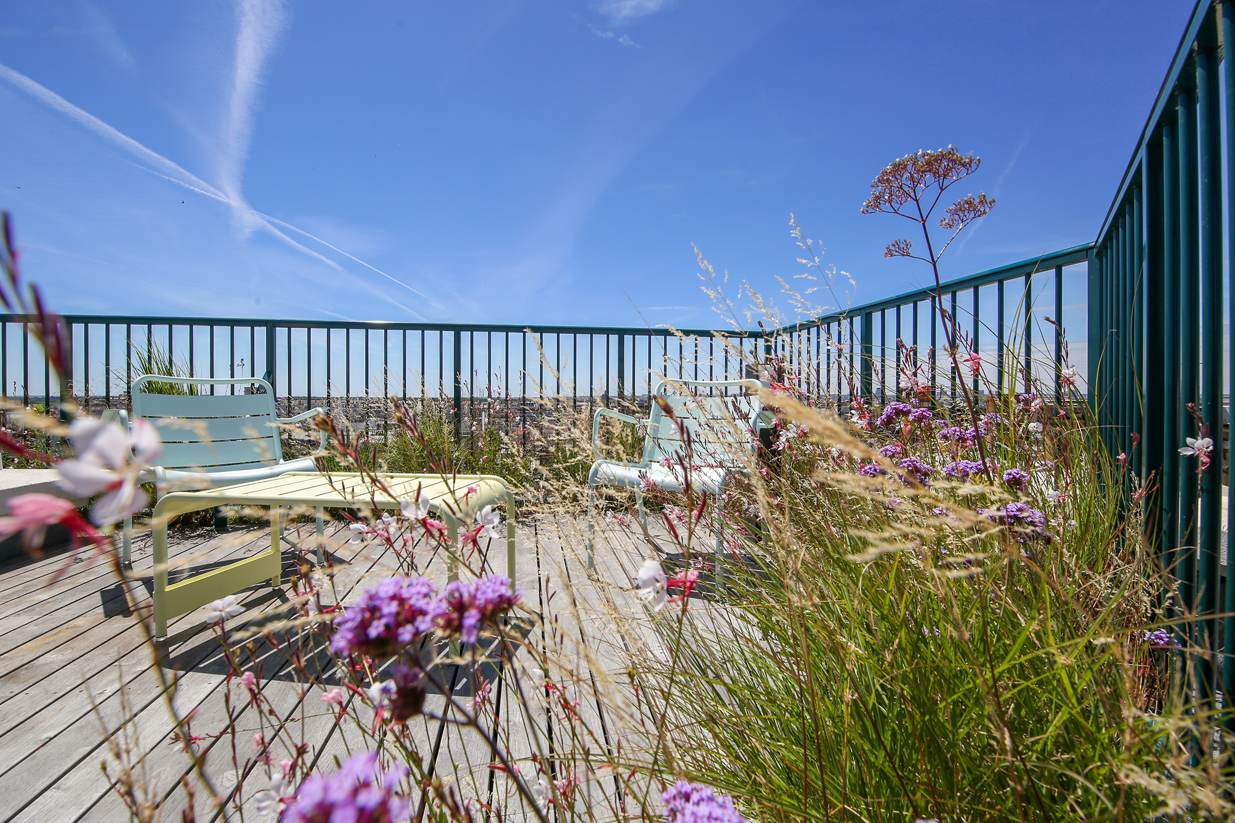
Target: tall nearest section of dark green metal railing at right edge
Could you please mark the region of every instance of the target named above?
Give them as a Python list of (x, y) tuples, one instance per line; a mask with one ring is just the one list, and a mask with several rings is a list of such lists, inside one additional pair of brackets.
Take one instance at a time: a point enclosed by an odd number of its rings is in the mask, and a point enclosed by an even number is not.
[[(1235, 691), (1235, 576), (1225, 575), (1223, 513), (1235, 353), (1226, 247), (1235, 227), (1235, 6), (1197, 4), (1136, 151), (1098, 233), (1089, 338), (1098, 422), (1142, 484), (1160, 484), (1151, 534), (1178, 580), (1176, 606), (1199, 622), (1183, 633), (1203, 695)], [(1213, 465), (1179, 454), (1215, 443)], [(1225, 581), (1223, 580), (1225, 576)], [(1216, 679), (1215, 679), (1216, 677)]]

